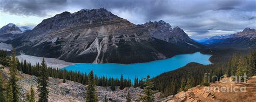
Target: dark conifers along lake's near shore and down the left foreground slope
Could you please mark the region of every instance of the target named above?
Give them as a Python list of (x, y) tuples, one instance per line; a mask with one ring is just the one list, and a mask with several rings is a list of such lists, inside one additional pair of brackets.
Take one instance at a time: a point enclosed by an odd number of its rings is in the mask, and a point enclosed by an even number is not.
[[(95, 85), (97, 86), (110, 86), (111, 90), (114, 91), (116, 86), (120, 86), (119, 89), (123, 90), (125, 87), (146, 87), (145, 90), (152, 91), (153, 86), (150, 81), (150, 77), (148, 76), (146, 81), (144, 79), (138, 80), (138, 78), (134, 79), (134, 85), (131, 83), (131, 79), (124, 79), (123, 74), (121, 75), (120, 79), (117, 78), (107, 78), (107, 77), (98, 77), (97, 75), (93, 74), (91, 71), (88, 75), (86, 73), (80, 72), (73, 72), (73, 71), (66, 71), (56, 69), (54, 67), (47, 67), (45, 60), (41, 64), (37, 63), (36, 65), (31, 65), (31, 63), (26, 62), (26, 60), (22, 60), (21, 62), (15, 56), (15, 50), (12, 51), (11, 57), (6, 55), (6, 51), (0, 50), (0, 64), (4, 66), (9, 66), (10, 70), (10, 78), (8, 80), (8, 84), (6, 88), (3, 85), (2, 75), (0, 74), (0, 101), (21, 101), (19, 100), (19, 88), (17, 85), (17, 71), (21, 71), (26, 74), (30, 74), (33, 76), (37, 76), (37, 91), (38, 91), (38, 100), (35, 100), (35, 91), (31, 86), (30, 91), (26, 93), (26, 101), (33, 102), (39, 101), (44, 102), (48, 101), (48, 77), (53, 78), (60, 78), (63, 79), (63, 83), (67, 80), (76, 81), (78, 83), (87, 85), (86, 91), (86, 101), (97, 101), (97, 90), (95, 89)], [(4, 67), (2, 67), (4, 68)], [(148, 86), (150, 85), (150, 86)], [(149, 88), (151, 87), (151, 88)], [(151, 93), (142, 94), (142, 100), (147, 99), (153, 96)], [(130, 97), (130, 98), (129, 98)], [(143, 98), (144, 97), (144, 98)], [(131, 99), (130, 93), (127, 94), (127, 99)], [(150, 97), (150, 99), (152, 99)]]

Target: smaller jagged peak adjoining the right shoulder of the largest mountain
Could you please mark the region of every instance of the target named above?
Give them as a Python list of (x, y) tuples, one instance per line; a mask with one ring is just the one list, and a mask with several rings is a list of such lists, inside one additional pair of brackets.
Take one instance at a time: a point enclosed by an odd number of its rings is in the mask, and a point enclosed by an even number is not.
[(194, 42), (190, 37), (188, 37), (187, 34), (178, 26), (172, 28), (169, 23), (164, 21), (149, 21), (145, 24), (142, 24), (142, 26), (147, 28), (150, 32), (150, 35), (154, 38), (165, 40), (166, 42), (190, 49), (203, 48), (202, 45)]

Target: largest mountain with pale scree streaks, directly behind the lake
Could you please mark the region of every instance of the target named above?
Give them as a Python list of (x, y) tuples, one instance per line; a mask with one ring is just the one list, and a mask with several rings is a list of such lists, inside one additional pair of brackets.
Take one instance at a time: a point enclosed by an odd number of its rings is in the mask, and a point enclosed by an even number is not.
[(78, 63), (149, 62), (195, 51), (153, 38), (106, 9), (60, 13), (8, 43), (27, 55)]

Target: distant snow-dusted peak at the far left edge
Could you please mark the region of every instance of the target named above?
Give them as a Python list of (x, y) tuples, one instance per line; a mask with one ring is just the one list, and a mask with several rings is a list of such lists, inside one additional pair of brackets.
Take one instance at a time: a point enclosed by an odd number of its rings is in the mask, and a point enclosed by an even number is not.
[(28, 30), (32, 30), (32, 28), (28, 26), (18, 27), (13, 23), (9, 23), (0, 29), (0, 40), (6, 41), (6, 40), (17, 38), (21, 36), (23, 32)]

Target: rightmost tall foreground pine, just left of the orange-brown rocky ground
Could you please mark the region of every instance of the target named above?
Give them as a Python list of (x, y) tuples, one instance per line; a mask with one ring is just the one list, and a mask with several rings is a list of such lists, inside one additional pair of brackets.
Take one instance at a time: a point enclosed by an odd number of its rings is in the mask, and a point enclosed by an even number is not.
[(144, 94), (139, 96), (139, 100), (142, 101), (154, 101), (154, 92), (153, 92), (153, 83), (150, 80), (150, 76), (148, 75), (146, 78), (146, 83), (145, 83), (145, 88), (144, 88)]

